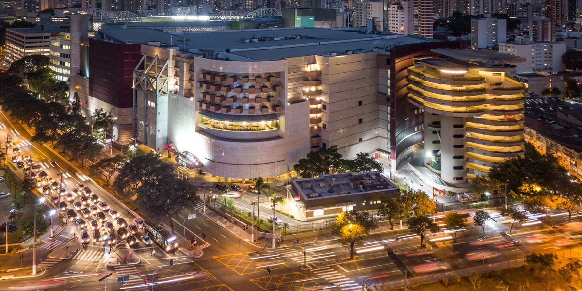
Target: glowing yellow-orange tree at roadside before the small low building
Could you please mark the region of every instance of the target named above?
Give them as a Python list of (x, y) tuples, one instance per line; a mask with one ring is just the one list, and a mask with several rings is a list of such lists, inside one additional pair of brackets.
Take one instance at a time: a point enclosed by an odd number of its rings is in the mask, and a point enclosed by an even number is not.
[(342, 212), (331, 225), (334, 235), (339, 236), (343, 244), (350, 244), (350, 258), (354, 258), (354, 244), (356, 240), (363, 239), (378, 225), (370, 217), (368, 212), (348, 211)]

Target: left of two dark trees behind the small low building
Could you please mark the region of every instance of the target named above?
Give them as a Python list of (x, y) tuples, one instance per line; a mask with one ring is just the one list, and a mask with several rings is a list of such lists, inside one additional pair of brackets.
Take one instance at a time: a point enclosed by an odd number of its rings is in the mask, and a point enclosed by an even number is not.
[(338, 146), (332, 145), (329, 148), (309, 152), (307, 157), (299, 159), (293, 168), (303, 178), (343, 172), (346, 162), (342, 157), (342, 154), (338, 152)]

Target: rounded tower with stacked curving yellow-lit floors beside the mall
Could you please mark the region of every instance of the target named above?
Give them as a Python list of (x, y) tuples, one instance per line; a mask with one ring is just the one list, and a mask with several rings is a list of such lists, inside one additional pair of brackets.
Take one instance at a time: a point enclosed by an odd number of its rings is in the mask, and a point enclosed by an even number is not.
[(433, 49), (408, 69), (409, 101), (424, 111), (424, 165), (449, 185), (523, 154), (523, 86), (505, 74), (519, 57)]

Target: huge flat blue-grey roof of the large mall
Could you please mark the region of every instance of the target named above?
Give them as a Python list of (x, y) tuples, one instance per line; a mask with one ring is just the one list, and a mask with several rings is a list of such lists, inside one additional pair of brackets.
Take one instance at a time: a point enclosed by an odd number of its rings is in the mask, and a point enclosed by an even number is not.
[[(148, 32), (150, 31), (150, 32)], [(322, 29), (314, 27), (289, 27), (275, 29), (187, 31), (171, 34), (150, 29), (105, 30), (104, 34), (116, 40), (147, 43), (147, 41), (173, 42), (191, 52), (223, 52), (239, 56), (241, 60), (274, 61), (296, 56), (345, 54), (346, 51), (374, 51), (392, 46), (418, 42), (436, 42), (430, 38), (396, 34), (377, 35), (361, 33), (359, 29)], [(245, 41), (248, 40), (248, 41)], [(256, 41), (254, 41), (256, 40)]]

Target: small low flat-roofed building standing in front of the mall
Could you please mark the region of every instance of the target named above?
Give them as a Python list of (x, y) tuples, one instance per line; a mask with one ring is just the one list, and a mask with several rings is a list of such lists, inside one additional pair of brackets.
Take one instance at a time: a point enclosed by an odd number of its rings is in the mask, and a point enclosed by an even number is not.
[(293, 180), (291, 187), (306, 219), (334, 217), (342, 211), (377, 210), (382, 197), (396, 198), (400, 193), (398, 186), (378, 171)]

